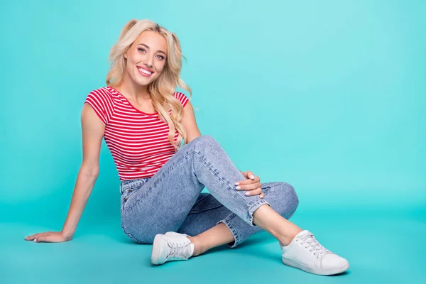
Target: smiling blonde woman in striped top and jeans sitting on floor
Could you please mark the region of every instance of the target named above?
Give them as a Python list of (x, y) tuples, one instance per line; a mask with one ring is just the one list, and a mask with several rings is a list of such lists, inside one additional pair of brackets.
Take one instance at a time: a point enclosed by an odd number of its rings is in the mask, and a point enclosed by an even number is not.
[[(237, 170), (214, 138), (201, 136), (192, 105), (175, 92), (178, 85), (191, 92), (180, 80), (176, 35), (152, 21), (129, 21), (110, 60), (107, 87), (91, 92), (82, 109), (83, 162), (62, 231), (26, 240), (72, 239), (97, 180), (104, 138), (121, 180), (121, 226), (133, 241), (153, 244), (153, 264), (234, 247), (264, 229), (278, 239), (288, 266), (321, 275), (349, 268), (288, 221), (298, 204), (291, 185), (261, 184)], [(211, 194), (201, 193), (204, 186)]]

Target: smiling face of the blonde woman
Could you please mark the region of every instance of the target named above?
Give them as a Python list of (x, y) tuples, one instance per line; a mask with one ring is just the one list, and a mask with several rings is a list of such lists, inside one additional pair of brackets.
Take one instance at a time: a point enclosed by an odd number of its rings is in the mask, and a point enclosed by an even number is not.
[(125, 77), (138, 85), (148, 86), (163, 71), (167, 53), (167, 40), (162, 35), (144, 31), (124, 53), (127, 59)]

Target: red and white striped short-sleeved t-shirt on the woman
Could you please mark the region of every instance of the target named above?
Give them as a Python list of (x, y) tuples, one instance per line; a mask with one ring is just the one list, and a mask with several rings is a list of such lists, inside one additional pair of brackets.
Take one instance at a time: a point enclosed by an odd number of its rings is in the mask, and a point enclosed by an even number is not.
[[(185, 107), (185, 94), (175, 92), (174, 96)], [(104, 139), (121, 181), (152, 177), (176, 153), (168, 141), (168, 124), (158, 113), (139, 111), (113, 87), (95, 89), (84, 103), (90, 104), (105, 124)], [(177, 138), (178, 131), (175, 141)]]

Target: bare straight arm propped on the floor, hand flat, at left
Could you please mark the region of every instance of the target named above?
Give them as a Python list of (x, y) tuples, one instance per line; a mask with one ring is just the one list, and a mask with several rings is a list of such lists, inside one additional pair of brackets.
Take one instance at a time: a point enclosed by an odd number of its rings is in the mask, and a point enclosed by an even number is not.
[(89, 104), (84, 104), (81, 115), (83, 161), (77, 175), (70, 209), (62, 231), (48, 231), (27, 236), (27, 241), (69, 241), (77, 229), (84, 207), (87, 204), (94, 182), (99, 174), (99, 151), (105, 126)]

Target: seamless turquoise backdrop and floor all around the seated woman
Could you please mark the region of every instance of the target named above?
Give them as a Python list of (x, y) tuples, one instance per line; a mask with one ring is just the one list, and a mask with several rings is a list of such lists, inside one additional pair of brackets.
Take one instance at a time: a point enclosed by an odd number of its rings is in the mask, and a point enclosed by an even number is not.
[[(415, 0), (2, 1), (0, 283), (421, 283), (425, 14)], [(178, 35), (201, 132), (240, 170), (292, 184), (292, 221), (348, 258), (349, 273), (285, 267), (268, 234), (152, 268), (151, 246), (121, 231), (104, 143), (74, 239), (23, 241), (62, 228), (82, 161), (80, 111), (131, 18)]]

